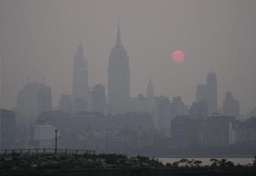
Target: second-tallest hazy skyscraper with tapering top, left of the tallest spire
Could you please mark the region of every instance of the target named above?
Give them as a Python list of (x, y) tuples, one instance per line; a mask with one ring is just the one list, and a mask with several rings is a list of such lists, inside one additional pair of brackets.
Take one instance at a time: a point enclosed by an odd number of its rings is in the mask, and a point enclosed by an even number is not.
[[(72, 87), (72, 98), (74, 103), (74, 110), (86, 110), (88, 103), (87, 95), (88, 94), (88, 68), (87, 60), (84, 58), (83, 46), (80, 45), (77, 47), (77, 54), (74, 56), (74, 66), (73, 66), (73, 87)], [(79, 101), (76, 101), (76, 99)], [(83, 102), (83, 105), (77, 104), (78, 102)], [(76, 106), (79, 106), (77, 108)], [(82, 108), (82, 109), (81, 109)]]

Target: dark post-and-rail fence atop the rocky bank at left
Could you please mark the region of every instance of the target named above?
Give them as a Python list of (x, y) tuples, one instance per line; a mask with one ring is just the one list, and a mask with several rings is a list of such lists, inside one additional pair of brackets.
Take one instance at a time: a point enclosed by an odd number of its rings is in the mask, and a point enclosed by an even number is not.
[[(52, 154), (55, 153), (55, 148), (28, 148), (28, 149), (1, 149), (0, 154)], [(74, 149), (57, 149), (57, 155), (95, 155), (95, 150), (74, 150)]]

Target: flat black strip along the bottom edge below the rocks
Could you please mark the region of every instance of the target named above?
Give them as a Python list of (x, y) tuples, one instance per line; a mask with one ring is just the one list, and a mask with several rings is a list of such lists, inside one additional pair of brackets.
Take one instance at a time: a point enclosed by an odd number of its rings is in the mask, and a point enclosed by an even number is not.
[(255, 176), (256, 167), (107, 168), (0, 171), (4, 176)]

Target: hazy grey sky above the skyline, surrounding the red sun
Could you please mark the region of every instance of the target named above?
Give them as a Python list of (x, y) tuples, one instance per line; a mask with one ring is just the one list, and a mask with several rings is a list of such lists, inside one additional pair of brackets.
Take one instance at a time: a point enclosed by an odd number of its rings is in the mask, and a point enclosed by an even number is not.
[[(131, 96), (146, 94), (151, 70), (155, 95), (191, 105), (196, 84), (213, 71), (218, 106), (231, 91), (247, 114), (256, 106), (255, 9), (255, 0), (0, 0), (1, 108), (16, 106), (24, 71), (33, 68), (52, 87), (54, 106), (71, 93), (80, 37), (89, 85), (103, 83), (107, 92), (119, 12)], [(182, 63), (171, 60), (174, 50), (184, 52)]]

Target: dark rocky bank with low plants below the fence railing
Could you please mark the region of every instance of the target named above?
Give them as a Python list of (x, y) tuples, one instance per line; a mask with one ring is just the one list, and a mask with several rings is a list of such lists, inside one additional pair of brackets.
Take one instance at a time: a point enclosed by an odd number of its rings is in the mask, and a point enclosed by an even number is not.
[[(102, 158), (100, 158), (102, 156)], [(98, 156), (66, 155), (26, 155), (12, 154), (1, 156), (0, 170), (47, 170), (47, 169), (86, 169), (86, 168), (164, 168), (162, 162), (139, 156), (127, 158), (118, 154)]]

